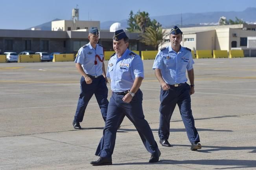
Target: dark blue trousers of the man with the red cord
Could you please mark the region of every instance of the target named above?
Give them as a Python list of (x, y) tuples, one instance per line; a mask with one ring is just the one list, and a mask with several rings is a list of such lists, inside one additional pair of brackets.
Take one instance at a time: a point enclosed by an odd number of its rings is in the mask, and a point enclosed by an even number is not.
[(76, 114), (74, 118), (76, 122), (83, 121), (83, 117), (85, 115), (85, 109), (87, 107), (88, 102), (92, 98), (93, 94), (95, 95), (96, 100), (99, 104), (101, 115), (104, 121), (106, 121), (107, 119), (107, 108), (108, 108), (109, 101), (107, 100), (108, 88), (106, 85), (106, 80), (103, 77), (103, 75), (97, 78), (92, 77), (91, 79), (92, 79), (91, 84), (86, 84), (85, 78), (83, 76), (80, 79), (81, 93), (78, 99)]

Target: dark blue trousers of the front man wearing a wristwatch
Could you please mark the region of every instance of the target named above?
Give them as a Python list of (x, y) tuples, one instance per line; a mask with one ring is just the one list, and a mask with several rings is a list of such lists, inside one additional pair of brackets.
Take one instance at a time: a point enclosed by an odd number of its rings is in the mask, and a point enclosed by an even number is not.
[(142, 142), (151, 154), (158, 152), (158, 146), (154, 139), (148, 122), (144, 119), (142, 110), (142, 91), (138, 90), (130, 103), (122, 101), (124, 95), (112, 93), (107, 112), (107, 121), (95, 155), (100, 157), (111, 157), (114, 151), (116, 132), (118, 127), (127, 118), (133, 122)]

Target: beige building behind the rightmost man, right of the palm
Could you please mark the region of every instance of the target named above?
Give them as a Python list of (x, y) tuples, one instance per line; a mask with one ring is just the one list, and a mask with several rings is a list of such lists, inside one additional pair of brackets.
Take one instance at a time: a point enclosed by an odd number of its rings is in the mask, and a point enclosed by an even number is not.
[[(192, 50), (248, 49), (247, 37), (256, 37), (256, 25), (236, 24), (224, 26), (184, 27), (181, 45)], [(169, 32), (166, 29), (165, 43), (169, 46)]]

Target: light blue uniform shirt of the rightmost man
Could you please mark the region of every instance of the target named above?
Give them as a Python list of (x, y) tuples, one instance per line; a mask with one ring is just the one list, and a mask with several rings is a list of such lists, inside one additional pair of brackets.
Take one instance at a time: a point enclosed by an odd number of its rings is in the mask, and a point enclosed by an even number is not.
[(162, 77), (166, 83), (179, 84), (188, 80), (186, 70), (193, 69), (193, 64), (192, 54), (188, 49), (180, 46), (180, 51), (177, 53), (170, 45), (158, 51), (153, 69), (161, 69)]

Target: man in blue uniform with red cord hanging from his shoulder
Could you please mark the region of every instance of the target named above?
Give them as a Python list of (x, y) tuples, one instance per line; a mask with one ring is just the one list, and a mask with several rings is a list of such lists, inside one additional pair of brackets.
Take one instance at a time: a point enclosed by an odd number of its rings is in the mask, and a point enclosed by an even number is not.
[(108, 89), (106, 83), (108, 80), (104, 65), (103, 47), (97, 44), (99, 31), (96, 27), (90, 28), (88, 39), (90, 42), (79, 49), (75, 60), (76, 68), (82, 75), (80, 80), (81, 93), (73, 121), (75, 129), (81, 129), (80, 122), (83, 121), (85, 109), (93, 94), (97, 99), (104, 121), (107, 118), (109, 101), (107, 100)]

